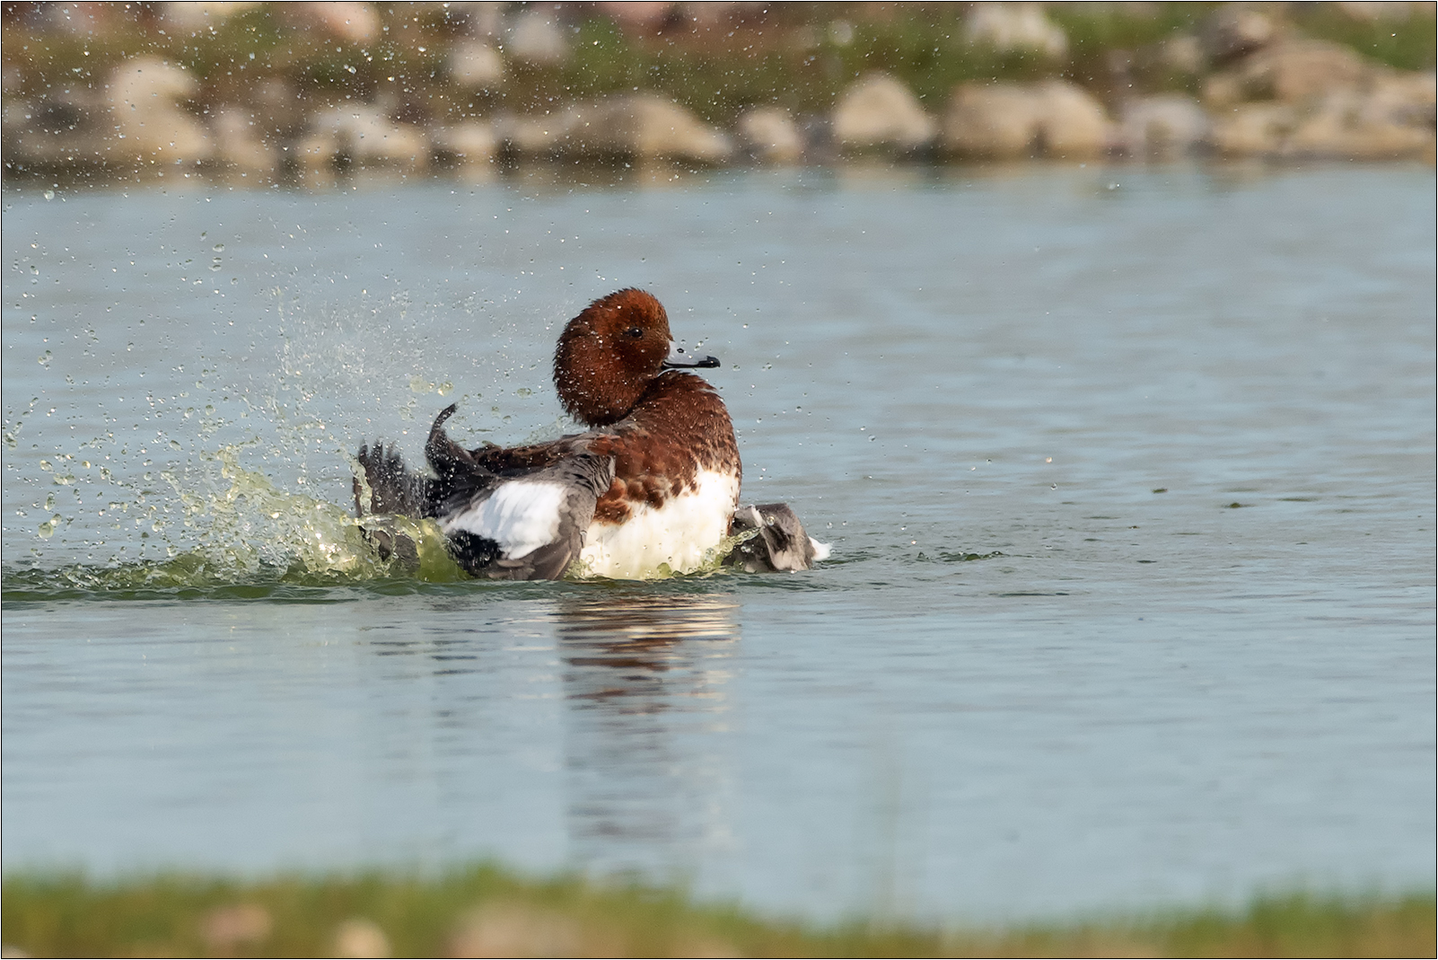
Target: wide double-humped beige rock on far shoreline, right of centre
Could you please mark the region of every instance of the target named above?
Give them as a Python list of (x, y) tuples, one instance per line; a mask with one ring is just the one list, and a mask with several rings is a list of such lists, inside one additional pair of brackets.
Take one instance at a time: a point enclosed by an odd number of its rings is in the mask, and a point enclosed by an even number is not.
[(943, 147), (965, 157), (1094, 157), (1113, 140), (1103, 105), (1064, 81), (961, 83), (943, 118)]

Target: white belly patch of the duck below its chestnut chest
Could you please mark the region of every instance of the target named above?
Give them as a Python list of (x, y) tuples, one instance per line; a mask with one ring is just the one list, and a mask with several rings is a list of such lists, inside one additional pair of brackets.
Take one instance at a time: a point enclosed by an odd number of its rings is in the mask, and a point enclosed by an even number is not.
[(654, 510), (631, 504), (623, 524), (590, 524), (580, 560), (595, 577), (638, 580), (659, 573), (689, 573), (703, 563), (705, 551), (729, 534), (729, 518), (739, 498), (739, 478), (699, 471), (693, 492), (673, 497)]

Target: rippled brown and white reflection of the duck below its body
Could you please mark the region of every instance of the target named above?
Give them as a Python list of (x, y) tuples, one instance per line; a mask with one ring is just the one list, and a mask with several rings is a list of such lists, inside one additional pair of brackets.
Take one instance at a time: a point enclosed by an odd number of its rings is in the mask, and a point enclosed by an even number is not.
[(597, 874), (682, 877), (731, 846), (728, 594), (611, 594), (558, 610), (569, 851)]

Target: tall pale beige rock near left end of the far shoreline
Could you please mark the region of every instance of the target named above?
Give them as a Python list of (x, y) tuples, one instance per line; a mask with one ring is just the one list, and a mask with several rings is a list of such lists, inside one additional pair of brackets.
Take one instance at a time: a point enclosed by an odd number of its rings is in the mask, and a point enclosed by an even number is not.
[(213, 153), (204, 125), (180, 107), (197, 89), (181, 68), (155, 58), (125, 60), (109, 78), (108, 99), (116, 137), (116, 158), (194, 163)]

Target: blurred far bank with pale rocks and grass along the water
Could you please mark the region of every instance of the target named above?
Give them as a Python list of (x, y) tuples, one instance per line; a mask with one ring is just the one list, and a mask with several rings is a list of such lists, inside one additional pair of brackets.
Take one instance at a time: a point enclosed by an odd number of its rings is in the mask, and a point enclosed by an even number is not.
[[(6, 4), (4, 173), (270, 186), (357, 168), (483, 178), (539, 160), (1434, 161), (1432, 66), (1368, 58), (1294, 14), (1332, 6), (1329, 23), (1398, 37), (1431, 33), (1434, 4), (1102, 4), (1123, 7), (1104, 14), (1109, 35), (1120, 16), (1145, 42), (1083, 50), (1071, 35), (1089, 24), (1070, 4), (966, 4), (953, 20), (926, 4), (794, 6)], [(853, 53), (925, 29), (968, 60)], [(762, 58), (743, 56), (761, 43)], [(823, 58), (824, 78), (805, 79)], [(646, 63), (650, 82), (601, 89)], [(687, 73), (666, 83), (672, 63)], [(978, 76), (943, 85), (965, 65)], [(779, 68), (795, 72), (791, 88)], [(705, 69), (719, 78), (712, 99), (693, 92)], [(765, 72), (766, 102), (742, 95)]]

